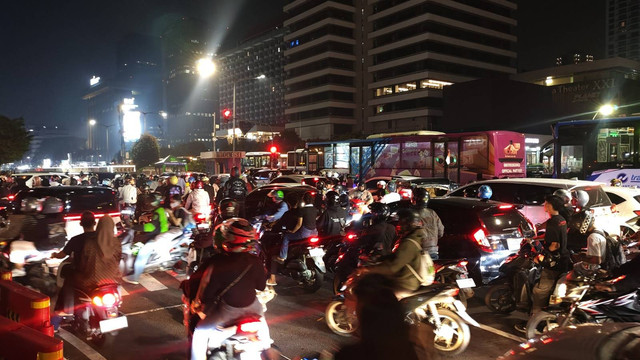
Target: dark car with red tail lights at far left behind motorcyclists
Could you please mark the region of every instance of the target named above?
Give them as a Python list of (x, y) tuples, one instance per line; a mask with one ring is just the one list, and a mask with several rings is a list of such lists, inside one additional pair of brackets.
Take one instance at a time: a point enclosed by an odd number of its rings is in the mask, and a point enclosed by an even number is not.
[(80, 217), (82, 212), (89, 210), (96, 218), (111, 216), (118, 225), (120, 223), (120, 208), (116, 191), (102, 186), (42, 186), (21, 191), (13, 201), (14, 213), (20, 213), (20, 203), (26, 197), (38, 199), (47, 196), (57, 197), (64, 202), (64, 220), (67, 239), (82, 234)]

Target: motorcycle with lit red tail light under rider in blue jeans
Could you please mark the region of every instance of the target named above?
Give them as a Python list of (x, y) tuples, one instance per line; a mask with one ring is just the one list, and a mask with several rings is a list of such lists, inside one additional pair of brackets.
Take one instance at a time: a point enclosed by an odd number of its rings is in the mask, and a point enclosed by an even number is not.
[(261, 225), (254, 225), (260, 236), (258, 246), (258, 256), (263, 260), (265, 266), (271, 264), (272, 271), (290, 277), (301, 283), (305, 292), (314, 293), (322, 287), (322, 281), (327, 270), (323, 257), (325, 250), (320, 238), (317, 236), (293, 240), (289, 242), (289, 255), (283, 264), (277, 263), (276, 256), (279, 255), (280, 246), (283, 240), (283, 229), (271, 229), (263, 231)]

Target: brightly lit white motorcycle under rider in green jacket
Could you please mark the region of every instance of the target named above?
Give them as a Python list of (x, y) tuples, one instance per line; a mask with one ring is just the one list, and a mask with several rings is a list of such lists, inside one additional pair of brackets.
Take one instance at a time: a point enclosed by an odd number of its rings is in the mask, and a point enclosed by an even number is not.
[[(133, 264), (138, 251), (144, 246), (144, 244), (134, 242), (134, 240), (133, 230), (129, 230), (121, 238), (122, 260), (120, 261), (120, 271), (123, 275), (133, 273)], [(158, 234), (152, 241), (155, 241), (156, 244), (153, 254), (145, 265), (145, 273), (177, 268), (181, 262), (186, 264), (191, 238), (185, 235), (182, 229), (171, 228), (165, 233)]]

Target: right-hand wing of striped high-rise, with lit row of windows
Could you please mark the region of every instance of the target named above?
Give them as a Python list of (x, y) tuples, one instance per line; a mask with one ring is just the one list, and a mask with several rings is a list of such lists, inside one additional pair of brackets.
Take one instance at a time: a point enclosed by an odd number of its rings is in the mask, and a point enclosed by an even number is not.
[(507, 0), (368, 1), (367, 133), (437, 129), (442, 88), (516, 73)]

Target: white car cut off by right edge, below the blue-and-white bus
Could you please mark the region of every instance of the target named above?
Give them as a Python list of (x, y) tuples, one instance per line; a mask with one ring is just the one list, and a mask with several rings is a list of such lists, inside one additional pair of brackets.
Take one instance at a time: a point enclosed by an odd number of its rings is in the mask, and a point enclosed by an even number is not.
[(603, 186), (603, 189), (613, 203), (614, 215), (622, 224), (621, 234), (635, 234), (640, 229), (640, 189), (617, 186)]

